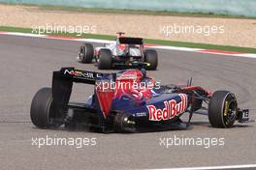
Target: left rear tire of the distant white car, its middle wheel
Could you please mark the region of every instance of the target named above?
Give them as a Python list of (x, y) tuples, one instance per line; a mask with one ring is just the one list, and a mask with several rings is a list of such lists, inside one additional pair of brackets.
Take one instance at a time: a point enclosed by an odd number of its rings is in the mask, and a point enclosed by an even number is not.
[(100, 50), (100, 61), (98, 63), (99, 70), (112, 69), (112, 51), (110, 49)]

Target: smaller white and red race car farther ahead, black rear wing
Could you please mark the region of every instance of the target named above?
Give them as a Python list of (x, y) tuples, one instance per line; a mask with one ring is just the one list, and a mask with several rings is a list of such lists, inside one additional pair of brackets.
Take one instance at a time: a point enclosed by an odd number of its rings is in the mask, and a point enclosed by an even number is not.
[(140, 68), (155, 71), (158, 64), (157, 52), (144, 49), (141, 38), (123, 37), (124, 33), (117, 33), (115, 42), (93, 48), (91, 43), (80, 46), (78, 60), (81, 63), (97, 63), (99, 70)]

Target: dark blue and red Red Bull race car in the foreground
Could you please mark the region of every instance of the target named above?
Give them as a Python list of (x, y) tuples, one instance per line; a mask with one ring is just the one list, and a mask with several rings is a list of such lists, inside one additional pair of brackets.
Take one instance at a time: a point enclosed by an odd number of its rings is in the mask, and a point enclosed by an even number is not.
[[(73, 82), (94, 85), (94, 94), (84, 103), (71, 102)], [(236, 120), (249, 120), (249, 110), (240, 109), (229, 91), (211, 94), (191, 83), (160, 86), (144, 69), (117, 73), (74, 68), (53, 71), (52, 87), (38, 91), (30, 116), (38, 128), (76, 127), (81, 123), (104, 132), (134, 132), (161, 125), (187, 128), (193, 113), (202, 109), (213, 128), (231, 128)], [(186, 122), (181, 121), (183, 113), (188, 113)]]

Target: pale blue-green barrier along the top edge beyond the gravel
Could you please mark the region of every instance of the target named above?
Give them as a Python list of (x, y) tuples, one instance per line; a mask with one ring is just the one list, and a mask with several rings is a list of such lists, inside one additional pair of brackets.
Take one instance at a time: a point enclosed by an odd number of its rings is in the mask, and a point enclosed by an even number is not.
[(2, 3), (256, 16), (255, 0), (0, 0)]

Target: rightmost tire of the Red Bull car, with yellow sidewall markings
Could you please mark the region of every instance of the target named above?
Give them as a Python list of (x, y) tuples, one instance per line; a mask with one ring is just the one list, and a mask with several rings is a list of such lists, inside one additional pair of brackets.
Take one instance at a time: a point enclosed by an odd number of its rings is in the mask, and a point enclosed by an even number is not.
[(216, 91), (208, 104), (208, 120), (213, 128), (231, 128), (238, 115), (238, 102), (228, 91)]

